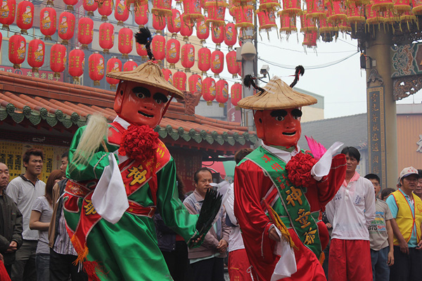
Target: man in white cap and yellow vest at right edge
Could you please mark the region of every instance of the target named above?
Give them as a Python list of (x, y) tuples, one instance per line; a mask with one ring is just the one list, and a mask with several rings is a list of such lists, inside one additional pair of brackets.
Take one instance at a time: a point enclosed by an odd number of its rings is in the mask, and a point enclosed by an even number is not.
[(422, 261), (422, 200), (414, 196), (418, 184), (418, 170), (410, 166), (399, 176), (399, 189), (392, 192), (386, 202), (392, 214), (394, 233), (394, 265), (390, 280), (421, 280)]

